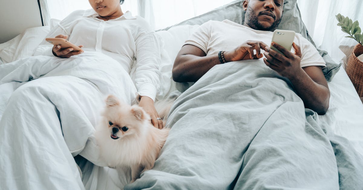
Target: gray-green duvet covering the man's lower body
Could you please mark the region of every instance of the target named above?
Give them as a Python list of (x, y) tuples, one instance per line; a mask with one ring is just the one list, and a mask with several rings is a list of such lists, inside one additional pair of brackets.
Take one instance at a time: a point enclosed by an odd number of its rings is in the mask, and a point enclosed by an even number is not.
[(363, 158), (260, 61), (213, 67), (179, 96), (155, 167), (125, 189), (363, 189)]

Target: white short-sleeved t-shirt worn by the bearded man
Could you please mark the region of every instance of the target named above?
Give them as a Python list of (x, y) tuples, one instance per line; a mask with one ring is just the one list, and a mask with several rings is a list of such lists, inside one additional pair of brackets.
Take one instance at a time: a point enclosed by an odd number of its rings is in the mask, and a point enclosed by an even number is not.
[[(207, 55), (216, 55), (219, 51), (229, 51), (240, 46), (248, 40), (262, 41), (267, 45), (271, 44), (273, 32), (255, 30), (244, 25), (234, 23), (230, 20), (214, 21), (210, 20), (196, 29), (185, 44), (195, 45)], [(296, 33), (295, 44), (299, 45), (302, 52), (301, 67), (322, 66), (326, 64), (319, 52), (301, 34)], [(261, 53), (264, 50), (261, 49)], [(295, 52), (291, 48), (291, 52)], [(262, 61), (258, 59), (256, 61)], [(266, 66), (267, 67), (267, 66)]]

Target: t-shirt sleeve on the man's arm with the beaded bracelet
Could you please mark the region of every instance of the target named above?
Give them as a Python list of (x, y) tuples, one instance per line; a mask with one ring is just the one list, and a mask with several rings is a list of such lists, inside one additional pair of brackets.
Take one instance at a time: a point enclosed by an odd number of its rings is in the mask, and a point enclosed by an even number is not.
[(205, 54), (208, 52), (208, 42), (211, 37), (211, 23), (212, 21), (208, 21), (200, 27), (198, 27), (190, 36), (189, 39), (185, 41), (183, 45), (194, 45), (199, 47), (204, 51)]

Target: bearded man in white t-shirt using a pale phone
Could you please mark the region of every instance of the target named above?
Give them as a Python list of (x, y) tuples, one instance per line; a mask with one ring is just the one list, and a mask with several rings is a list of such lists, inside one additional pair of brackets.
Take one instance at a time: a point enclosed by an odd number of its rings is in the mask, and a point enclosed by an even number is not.
[[(245, 0), (244, 26), (228, 20), (201, 25), (176, 57), (173, 79), (176, 82), (196, 82), (217, 64), (263, 59), (266, 66), (290, 80), (306, 108), (325, 114), (330, 98), (322, 72), (325, 62), (313, 45), (301, 35), (295, 37), (294, 53), (271, 43), (286, 56), (266, 45), (281, 21), (283, 6), (284, 0)], [(240, 41), (244, 43), (240, 44)]]

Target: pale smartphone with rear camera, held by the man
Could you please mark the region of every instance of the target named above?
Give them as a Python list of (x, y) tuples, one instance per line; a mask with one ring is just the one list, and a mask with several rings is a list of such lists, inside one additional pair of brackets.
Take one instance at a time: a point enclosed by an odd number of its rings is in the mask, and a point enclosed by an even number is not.
[[(291, 51), (291, 47), (293, 47), (294, 39), (295, 39), (295, 31), (291, 30), (275, 30), (272, 35), (272, 41), (281, 45), (282, 47), (286, 48), (289, 51)], [(284, 55), (272, 45), (270, 46), (270, 48)]]

